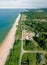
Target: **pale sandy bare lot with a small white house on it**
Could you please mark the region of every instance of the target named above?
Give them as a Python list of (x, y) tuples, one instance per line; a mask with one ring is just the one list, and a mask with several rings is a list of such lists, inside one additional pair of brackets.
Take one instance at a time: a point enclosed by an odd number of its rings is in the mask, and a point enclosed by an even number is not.
[(22, 31), (22, 39), (23, 40), (31, 40), (34, 37), (34, 32), (27, 32), (26, 30)]

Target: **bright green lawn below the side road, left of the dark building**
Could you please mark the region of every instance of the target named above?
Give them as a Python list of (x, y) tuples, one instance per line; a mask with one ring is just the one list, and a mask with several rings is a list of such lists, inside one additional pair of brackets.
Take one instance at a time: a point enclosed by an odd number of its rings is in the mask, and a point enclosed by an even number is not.
[(36, 54), (32, 53), (25, 53), (23, 54), (23, 57), (22, 57), (22, 62), (25, 62), (26, 59), (29, 59), (29, 65), (36, 65)]

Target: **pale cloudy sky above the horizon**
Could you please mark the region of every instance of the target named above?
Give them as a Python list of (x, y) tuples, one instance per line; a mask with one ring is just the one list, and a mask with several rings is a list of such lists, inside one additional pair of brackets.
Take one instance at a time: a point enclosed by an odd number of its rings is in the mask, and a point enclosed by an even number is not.
[(47, 0), (0, 0), (0, 8), (47, 8)]

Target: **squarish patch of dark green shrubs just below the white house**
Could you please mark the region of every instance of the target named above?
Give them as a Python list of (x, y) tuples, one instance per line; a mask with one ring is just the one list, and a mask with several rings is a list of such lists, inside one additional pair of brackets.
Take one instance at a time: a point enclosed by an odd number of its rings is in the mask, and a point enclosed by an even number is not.
[(25, 50), (34, 50), (35, 49), (35, 45), (34, 45), (33, 41), (25, 40), (25, 41), (23, 41), (23, 43), (24, 43)]

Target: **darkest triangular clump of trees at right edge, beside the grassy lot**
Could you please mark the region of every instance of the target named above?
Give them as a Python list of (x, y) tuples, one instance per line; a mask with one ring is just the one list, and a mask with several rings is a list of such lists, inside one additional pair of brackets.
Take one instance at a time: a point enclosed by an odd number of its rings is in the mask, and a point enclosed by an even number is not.
[(44, 50), (47, 50), (47, 33), (40, 33), (38, 37), (34, 37), (34, 39), (38, 42), (40, 47), (42, 47)]

